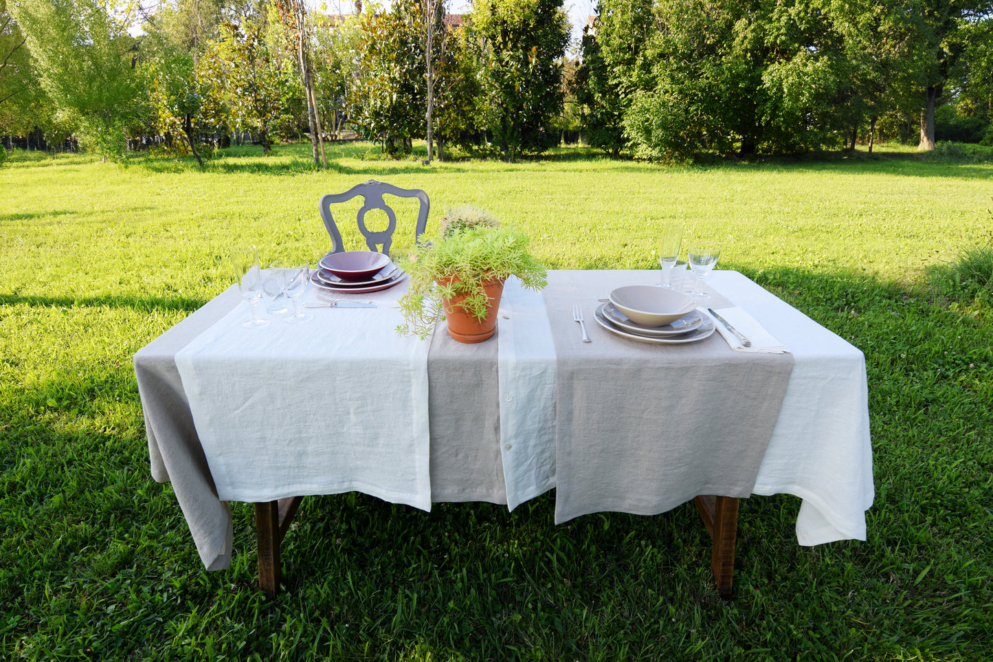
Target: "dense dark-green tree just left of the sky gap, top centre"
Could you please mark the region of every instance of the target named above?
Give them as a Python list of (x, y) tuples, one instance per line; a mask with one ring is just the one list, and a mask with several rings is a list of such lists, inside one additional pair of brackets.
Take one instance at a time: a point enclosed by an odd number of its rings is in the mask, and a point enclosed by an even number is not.
[(480, 53), (481, 125), (503, 159), (557, 144), (549, 122), (562, 112), (561, 61), (569, 43), (562, 0), (476, 0), (469, 26)]

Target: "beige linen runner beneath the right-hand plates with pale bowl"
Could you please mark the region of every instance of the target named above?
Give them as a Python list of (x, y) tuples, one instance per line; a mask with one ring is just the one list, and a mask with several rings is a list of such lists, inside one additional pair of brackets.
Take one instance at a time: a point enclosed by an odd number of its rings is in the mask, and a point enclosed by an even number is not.
[[(647, 344), (594, 321), (599, 299), (614, 288), (656, 277), (645, 271), (549, 274), (544, 298), (557, 357), (557, 523), (605, 510), (654, 515), (698, 494), (752, 494), (792, 356), (737, 354), (718, 333), (687, 345)], [(590, 343), (582, 342), (573, 320), (574, 303), (583, 308)]]

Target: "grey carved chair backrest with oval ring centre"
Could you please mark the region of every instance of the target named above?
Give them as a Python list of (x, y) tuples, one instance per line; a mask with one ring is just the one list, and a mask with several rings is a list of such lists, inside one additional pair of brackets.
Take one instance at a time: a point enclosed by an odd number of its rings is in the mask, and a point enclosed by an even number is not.
[[(358, 224), (358, 232), (365, 238), (365, 245), (369, 250), (389, 253), (389, 247), (393, 243), (393, 232), (396, 230), (396, 214), (393, 213), (392, 208), (383, 200), (382, 196), (385, 193), (397, 196), (398, 198), (417, 198), (420, 201), (420, 210), (417, 213), (417, 226), (414, 234), (414, 242), (420, 244), (421, 235), (424, 234), (424, 230), (428, 224), (428, 210), (431, 208), (427, 194), (420, 189), (401, 189), (392, 184), (376, 182), (370, 179), (362, 184), (356, 184), (345, 193), (329, 193), (326, 196), (321, 196), (321, 219), (324, 221), (324, 227), (328, 229), (328, 234), (331, 235), (333, 244), (332, 252), (342, 252), (345, 250), (345, 246), (342, 243), (342, 233), (339, 231), (338, 225), (335, 223), (335, 217), (331, 212), (331, 206), (348, 202), (355, 198), (355, 196), (361, 196), (362, 206), (358, 210), (358, 215), (355, 219), (355, 222)], [(382, 210), (386, 213), (389, 224), (385, 230), (373, 232), (365, 227), (365, 213), (373, 209)], [(377, 245), (381, 245), (382, 248), (376, 248)]]

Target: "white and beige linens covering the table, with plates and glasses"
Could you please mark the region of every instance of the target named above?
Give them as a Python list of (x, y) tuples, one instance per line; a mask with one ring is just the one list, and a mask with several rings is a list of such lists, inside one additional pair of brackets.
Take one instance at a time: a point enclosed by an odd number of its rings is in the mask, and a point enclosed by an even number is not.
[(236, 284), (135, 356), (153, 476), (173, 482), (212, 570), (230, 559), (224, 502), (350, 490), (512, 510), (555, 488), (556, 523), (787, 492), (800, 544), (864, 540), (861, 352), (713, 270), (719, 248), (691, 247), (687, 269), (672, 245), (660, 279), (508, 279), (496, 342), (478, 344), (397, 333), (409, 278), (388, 256), (262, 269), (232, 252)]

